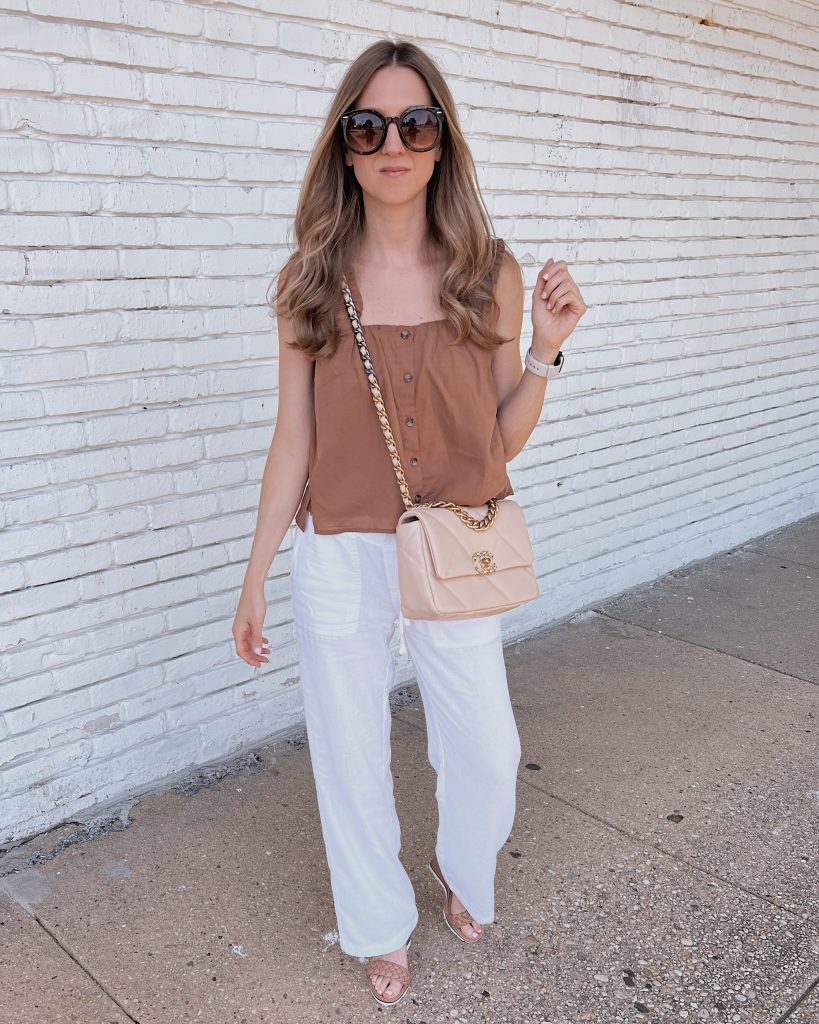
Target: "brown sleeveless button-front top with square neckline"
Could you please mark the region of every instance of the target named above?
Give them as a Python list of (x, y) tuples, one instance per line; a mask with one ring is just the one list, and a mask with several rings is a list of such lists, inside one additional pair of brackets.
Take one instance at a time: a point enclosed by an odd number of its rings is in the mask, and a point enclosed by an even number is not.
[[(495, 275), (500, 262), (499, 254)], [(363, 322), (351, 266), (345, 276)], [(341, 292), (339, 301), (339, 346), (313, 364), (315, 419), (296, 524), (303, 530), (309, 511), (316, 534), (394, 534), (404, 504)], [(448, 321), (361, 328), (411, 496), (482, 505), (514, 494), (498, 425), (492, 351), (470, 339), (456, 341)]]

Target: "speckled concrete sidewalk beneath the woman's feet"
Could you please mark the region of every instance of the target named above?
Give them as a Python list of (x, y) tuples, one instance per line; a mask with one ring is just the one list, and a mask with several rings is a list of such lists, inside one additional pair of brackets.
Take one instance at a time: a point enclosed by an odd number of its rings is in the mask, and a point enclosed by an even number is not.
[(814, 516), (510, 645), (518, 808), (475, 947), (398, 691), (397, 1008), (338, 946), (301, 735), (0, 859), (0, 1022), (819, 1022), (818, 626)]

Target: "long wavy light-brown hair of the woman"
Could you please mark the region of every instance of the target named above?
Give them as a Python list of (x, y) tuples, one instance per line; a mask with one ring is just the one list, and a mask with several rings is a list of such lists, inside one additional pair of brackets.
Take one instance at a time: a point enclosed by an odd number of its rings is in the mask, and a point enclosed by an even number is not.
[[(483, 348), (512, 339), (491, 324), (499, 312), (492, 290), (505, 244), (494, 237), (461, 131), (452, 95), (432, 58), (406, 40), (380, 40), (346, 70), (328, 111), (302, 181), (294, 221), (296, 252), (277, 275), (275, 312), (293, 326), (294, 347), (310, 358), (335, 353), (340, 340), (339, 309), (347, 254), (362, 233), (364, 206), (352, 167), (344, 163), (340, 119), (355, 110), (357, 97), (375, 72), (389, 65), (412, 68), (426, 81), (432, 103), (444, 112), (441, 158), (427, 183), (429, 238), (446, 256), (439, 303), (457, 329), (457, 340), (471, 338)], [(510, 254), (511, 255), (511, 254)]]

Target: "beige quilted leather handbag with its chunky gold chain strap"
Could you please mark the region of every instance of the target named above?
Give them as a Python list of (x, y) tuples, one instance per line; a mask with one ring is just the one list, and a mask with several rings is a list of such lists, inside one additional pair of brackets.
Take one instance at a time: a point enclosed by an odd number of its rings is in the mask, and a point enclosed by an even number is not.
[(526, 519), (517, 502), (511, 498), (467, 506), (413, 502), (346, 281), (342, 291), (406, 507), (395, 527), (404, 617), (477, 618), (533, 600), (540, 589)]

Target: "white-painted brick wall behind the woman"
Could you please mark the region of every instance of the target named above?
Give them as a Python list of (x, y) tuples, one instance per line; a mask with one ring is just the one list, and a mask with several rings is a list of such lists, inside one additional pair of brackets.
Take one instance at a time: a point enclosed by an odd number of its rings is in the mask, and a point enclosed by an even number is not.
[(590, 306), (510, 465), (543, 598), (506, 635), (819, 507), (819, 10), (329, 10), (0, 0), (0, 845), (300, 721), (292, 532), (266, 671), (230, 638), (276, 412), (265, 294), (378, 35), (440, 61), (498, 232)]

